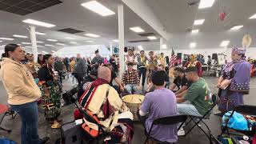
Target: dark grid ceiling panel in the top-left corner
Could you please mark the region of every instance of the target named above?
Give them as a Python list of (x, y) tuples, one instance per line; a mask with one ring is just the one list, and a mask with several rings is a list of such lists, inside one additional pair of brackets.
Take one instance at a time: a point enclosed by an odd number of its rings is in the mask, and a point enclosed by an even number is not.
[(60, 3), (62, 1), (59, 0), (0, 0), (0, 10), (26, 15)]

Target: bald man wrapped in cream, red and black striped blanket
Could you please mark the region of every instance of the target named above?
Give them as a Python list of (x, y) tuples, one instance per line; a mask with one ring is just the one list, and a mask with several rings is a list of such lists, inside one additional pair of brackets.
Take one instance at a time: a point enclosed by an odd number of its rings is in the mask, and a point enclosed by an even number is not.
[[(106, 66), (99, 67), (98, 78), (86, 87), (85, 93), (79, 99), (80, 105), (90, 110), (92, 114), (96, 114), (96, 116), (102, 120), (100, 121), (102, 126), (108, 130), (113, 130), (115, 126), (125, 126), (121, 123), (126, 123), (126, 120), (131, 122), (127, 122), (126, 124), (133, 125), (133, 114), (130, 113), (129, 109), (122, 102), (118, 92), (109, 85), (110, 80), (110, 69)], [(109, 102), (109, 108), (106, 108), (106, 102)], [(107, 109), (108, 112), (106, 112)], [(85, 123), (90, 126), (91, 129), (98, 130), (98, 126), (94, 123), (87, 121)], [(126, 129), (122, 130), (130, 130), (130, 127), (127, 126)], [(116, 140), (118, 138), (111, 139)]]

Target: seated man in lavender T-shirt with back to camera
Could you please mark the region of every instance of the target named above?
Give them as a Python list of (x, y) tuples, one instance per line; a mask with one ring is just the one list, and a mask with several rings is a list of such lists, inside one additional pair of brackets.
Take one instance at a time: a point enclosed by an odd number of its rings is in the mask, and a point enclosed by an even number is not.
[[(152, 75), (155, 90), (147, 93), (138, 112), (138, 118), (149, 132), (154, 119), (176, 114), (176, 96), (174, 92), (165, 88), (165, 71), (156, 71)], [(145, 118), (149, 114), (148, 118)], [(177, 126), (154, 126), (150, 136), (162, 142), (176, 142)]]

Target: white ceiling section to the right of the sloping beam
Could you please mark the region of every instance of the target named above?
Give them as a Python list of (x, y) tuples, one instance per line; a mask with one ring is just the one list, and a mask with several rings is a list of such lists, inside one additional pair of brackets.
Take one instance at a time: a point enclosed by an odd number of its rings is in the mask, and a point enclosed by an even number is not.
[[(188, 49), (190, 42), (197, 42), (196, 48), (219, 47), (223, 40), (230, 40), (230, 46), (241, 46), (242, 36), (250, 34), (251, 46), (256, 47), (256, 19), (248, 19), (256, 13), (255, 0), (215, 0), (210, 8), (198, 10), (198, 6), (188, 6), (197, 0), (144, 0), (158, 17), (168, 33), (172, 33), (170, 46)], [(230, 14), (220, 21), (218, 14), (224, 10)], [(205, 19), (201, 26), (193, 26), (195, 19)], [(230, 31), (234, 25), (243, 25), (241, 30)], [(186, 30), (199, 29), (198, 34)]]

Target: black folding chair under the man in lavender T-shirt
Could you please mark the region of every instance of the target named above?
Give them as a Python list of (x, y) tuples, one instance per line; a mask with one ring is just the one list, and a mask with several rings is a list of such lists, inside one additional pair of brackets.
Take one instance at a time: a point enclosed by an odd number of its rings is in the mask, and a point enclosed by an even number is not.
[[(151, 140), (153, 140), (154, 142), (161, 142), (158, 139), (150, 137), (150, 133), (151, 133), (151, 130), (154, 125), (174, 125), (174, 124), (178, 124), (178, 123), (183, 124), (184, 122), (186, 122), (186, 118), (187, 118), (187, 115), (178, 114), (178, 115), (172, 115), (172, 116), (154, 119), (154, 122), (150, 126), (150, 131), (148, 133), (146, 133), (146, 141), (144, 143), (146, 144), (146, 142), (149, 140), (149, 138)], [(182, 127), (182, 124), (178, 127), (178, 130)], [(166, 143), (168, 143), (168, 142), (166, 142)]]

